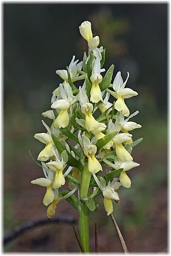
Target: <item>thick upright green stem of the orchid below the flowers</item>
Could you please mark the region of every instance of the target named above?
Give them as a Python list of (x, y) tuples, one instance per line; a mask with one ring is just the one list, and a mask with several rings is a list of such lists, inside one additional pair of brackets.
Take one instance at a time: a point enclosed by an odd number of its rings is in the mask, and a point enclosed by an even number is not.
[[(81, 174), (80, 199), (88, 196), (91, 172), (88, 171), (88, 164), (85, 165)], [(79, 235), (85, 253), (90, 253), (89, 241), (89, 209), (87, 205), (79, 200)]]

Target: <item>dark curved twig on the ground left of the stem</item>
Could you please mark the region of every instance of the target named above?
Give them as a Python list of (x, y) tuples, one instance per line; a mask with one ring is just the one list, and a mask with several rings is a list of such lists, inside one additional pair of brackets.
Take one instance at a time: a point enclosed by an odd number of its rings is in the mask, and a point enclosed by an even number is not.
[(54, 218), (44, 218), (44, 219), (38, 219), (35, 221), (28, 221), (26, 223), (24, 223), (21, 226), (18, 226), (17, 228), (15, 228), (14, 230), (12, 230), (11, 232), (7, 233), (4, 238), (3, 238), (3, 243), (6, 244), (9, 241), (15, 239), (18, 235), (20, 235), (21, 233), (31, 229), (31, 228), (35, 228), (36, 226), (41, 226), (44, 224), (48, 224), (48, 223), (75, 223), (75, 219), (70, 218), (70, 217), (54, 217)]

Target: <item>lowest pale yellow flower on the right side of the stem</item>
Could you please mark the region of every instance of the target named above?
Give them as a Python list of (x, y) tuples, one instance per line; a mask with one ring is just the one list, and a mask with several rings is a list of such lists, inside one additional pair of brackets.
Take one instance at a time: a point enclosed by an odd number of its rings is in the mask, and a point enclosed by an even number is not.
[[(106, 185), (106, 180), (101, 177), (100, 181), (99, 179), (96, 177), (95, 174), (92, 174), (94, 176), (94, 179), (99, 187), (99, 189), (101, 189), (102, 194), (103, 194), (103, 204), (105, 207), (105, 210), (107, 212), (107, 216), (109, 216), (112, 212), (113, 212), (113, 204), (111, 199), (115, 200), (115, 201), (119, 201), (119, 197), (118, 197), (118, 193), (115, 191), (120, 187), (120, 184), (115, 187), (114, 183), (116, 181), (114, 181), (111, 185), (110, 182)], [(114, 189), (115, 187), (115, 189)]]

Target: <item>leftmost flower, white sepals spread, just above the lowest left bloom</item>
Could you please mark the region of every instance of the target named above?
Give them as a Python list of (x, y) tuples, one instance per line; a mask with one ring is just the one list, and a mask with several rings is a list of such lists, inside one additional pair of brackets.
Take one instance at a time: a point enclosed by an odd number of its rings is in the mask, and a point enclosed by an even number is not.
[(43, 198), (43, 204), (47, 206), (54, 200), (54, 192), (53, 192), (54, 172), (49, 170), (49, 168), (47, 168), (46, 164), (44, 164), (43, 162), (42, 162), (42, 168), (46, 178), (34, 179), (34, 181), (31, 181), (31, 183), (46, 187), (46, 194), (44, 195), (44, 198)]

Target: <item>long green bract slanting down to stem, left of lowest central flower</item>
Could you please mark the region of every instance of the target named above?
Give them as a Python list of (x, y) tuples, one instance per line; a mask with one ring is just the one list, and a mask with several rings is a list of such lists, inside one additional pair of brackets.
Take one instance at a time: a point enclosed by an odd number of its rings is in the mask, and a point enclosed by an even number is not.
[[(58, 152), (61, 154), (64, 150), (66, 150), (66, 148), (64, 147), (64, 145), (62, 145), (62, 143), (60, 142), (60, 140), (57, 139), (57, 137), (51, 133), (51, 138), (53, 139), (53, 142), (58, 150)], [(74, 158), (72, 156), (72, 154), (70, 154), (68, 152), (68, 150), (66, 150), (66, 153), (68, 154), (68, 162), (67, 164), (73, 167), (76, 167), (77, 169), (79, 169), (80, 171), (83, 170), (83, 165), (76, 160), (76, 158)]]

